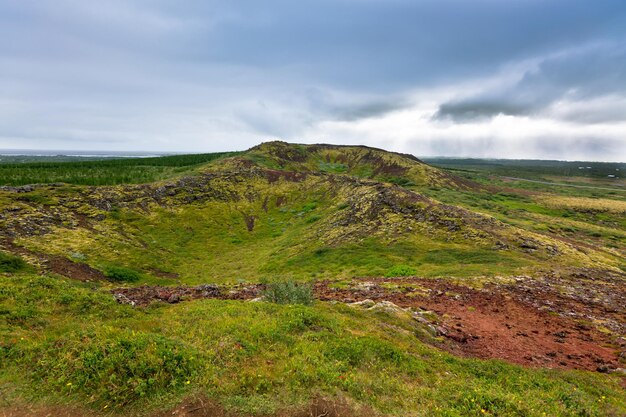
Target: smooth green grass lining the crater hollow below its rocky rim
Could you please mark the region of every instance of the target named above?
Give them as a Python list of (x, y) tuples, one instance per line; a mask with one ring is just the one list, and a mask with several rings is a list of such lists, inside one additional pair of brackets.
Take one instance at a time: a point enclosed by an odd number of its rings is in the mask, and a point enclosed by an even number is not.
[(105, 272), (110, 265), (141, 271), (141, 282), (155, 282), (150, 271), (158, 269), (175, 272), (188, 284), (383, 276), (404, 263), (414, 266), (413, 275), (466, 277), (516, 273), (538, 262), (463, 237), (452, 243), (413, 233), (393, 243), (370, 237), (332, 246), (307, 238), (311, 227), (324, 227), (322, 219), (336, 211), (328, 202), (294, 200), (267, 213), (256, 211), (249, 232), (242, 214), (224, 203), (155, 209), (148, 216), (123, 210), (102, 224), (102, 233), (59, 229), (19, 242), (62, 256), (83, 254), (83, 262)]

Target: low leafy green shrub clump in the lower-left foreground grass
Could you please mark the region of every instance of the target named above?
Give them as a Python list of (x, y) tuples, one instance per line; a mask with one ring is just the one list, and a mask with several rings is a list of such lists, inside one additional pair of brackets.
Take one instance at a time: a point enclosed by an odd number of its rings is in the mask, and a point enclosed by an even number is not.
[(117, 329), (67, 333), (10, 356), (53, 392), (114, 407), (183, 391), (200, 366), (197, 354), (179, 342)]

